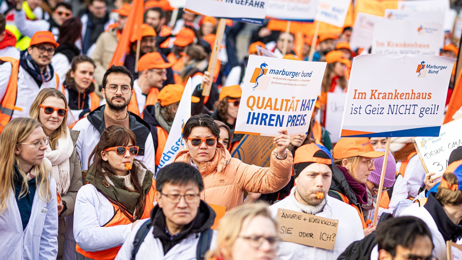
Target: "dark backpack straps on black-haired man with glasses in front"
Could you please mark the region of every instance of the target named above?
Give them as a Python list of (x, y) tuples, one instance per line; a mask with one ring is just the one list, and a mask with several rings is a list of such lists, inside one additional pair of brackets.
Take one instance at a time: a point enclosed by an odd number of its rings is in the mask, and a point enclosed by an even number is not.
[[(149, 233), (149, 229), (151, 229), (151, 221), (146, 221), (141, 225), (140, 229), (138, 229), (138, 232), (136, 232), (135, 239), (133, 240), (132, 258), (130, 258), (131, 260), (135, 260), (136, 254), (138, 253), (138, 250), (140, 250), (141, 244), (143, 243), (146, 235)], [(212, 235), (213, 230), (210, 228), (201, 232), (196, 249), (197, 260), (204, 260), (205, 253), (210, 248), (210, 243), (212, 242)]]

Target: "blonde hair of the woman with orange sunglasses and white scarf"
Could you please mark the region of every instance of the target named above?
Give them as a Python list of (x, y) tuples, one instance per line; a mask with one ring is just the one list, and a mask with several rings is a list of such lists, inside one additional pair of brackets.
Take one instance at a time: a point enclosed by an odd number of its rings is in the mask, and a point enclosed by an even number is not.
[[(30, 111), (29, 111), (30, 118), (34, 118), (38, 122), (40, 122), (39, 112), (40, 112), (41, 107), (39, 105), (42, 105), (43, 100), (45, 100), (48, 97), (55, 97), (55, 98), (64, 100), (65, 107), (62, 107), (62, 108), (66, 108), (67, 111), (69, 111), (69, 106), (67, 105), (66, 97), (61, 91), (55, 88), (44, 88), (38, 93), (34, 102), (32, 102), (32, 105), (30, 106)], [(55, 149), (56, 142), (58, 142), (58, 139), (67, 135), (67, 123), (66, 122), (67, 122), (68, 114), (69, 112), (67, 112), (66, 116), (64, 116), (64, 118), (62, 119), (61, 125), (58, 128), (56, 128), (56, 130), (53, 131), (53, 133), (49, 136), (50, 137), (50, 148), (52, 150)]]

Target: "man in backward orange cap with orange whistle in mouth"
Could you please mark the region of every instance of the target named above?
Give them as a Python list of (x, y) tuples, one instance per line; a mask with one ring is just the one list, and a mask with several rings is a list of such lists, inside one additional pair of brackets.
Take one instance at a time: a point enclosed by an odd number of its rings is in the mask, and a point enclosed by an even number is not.
[(332, 180), (332, 158), (328, 150), (314, 143), (297, 149), (293, 161), (296, 186), (291, 194), (269, 207), (273, 217), (280, 210), (293, 210), (338, 220), (333, 250), (315, 248), (282, 241), (278, 245), (278, 260), (335, 260), (353, 241), (364, 238), (358, 212), (338, 199), (328, 196)]

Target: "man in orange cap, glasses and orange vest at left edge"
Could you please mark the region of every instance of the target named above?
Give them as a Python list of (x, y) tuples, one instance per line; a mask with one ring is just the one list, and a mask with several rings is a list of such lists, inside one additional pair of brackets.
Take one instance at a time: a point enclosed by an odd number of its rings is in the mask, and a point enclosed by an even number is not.
[(50, 31), (37, 31), (19, 60), (0, 57), (0, 131), (12, 118), (27, 118), (32, 102), (40, 90), (59, 88), (58, 74), (51, 57), (59, 46)]

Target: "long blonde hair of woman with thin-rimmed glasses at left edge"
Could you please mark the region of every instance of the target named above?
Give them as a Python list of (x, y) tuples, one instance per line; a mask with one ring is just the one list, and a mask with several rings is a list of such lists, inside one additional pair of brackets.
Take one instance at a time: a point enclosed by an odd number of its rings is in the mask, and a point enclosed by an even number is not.
[[(37, 128), (43, 128), (42, 124), (32, 118), (15, 118), (6, 124), (0, 135), (0, 213), (8, 207), (8, 198), (10, 192), (14, 191), (13, 178), (15, 175), (14, 165), (18, 166), (19, 174), (22, 177), (21, 191), (19, 198), (24, 197), (29, 187), (27, 185), (27, 173), (21, 171), (19, 167), (19, 159), (15, 153), (16, 146), (24, 140)], [(37, 192), (38, 196), (45, 202), (51, 199), (49, 165), (44, 161), (38, 166), (33, 166), (36, 170)]]

